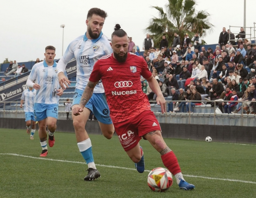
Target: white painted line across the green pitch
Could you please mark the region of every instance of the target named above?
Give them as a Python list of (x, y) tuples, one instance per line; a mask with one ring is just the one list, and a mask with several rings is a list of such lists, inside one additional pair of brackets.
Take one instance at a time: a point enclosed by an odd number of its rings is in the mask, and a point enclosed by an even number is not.
[[(27, 157), (32, 159), (42, 159), (42, 160), (48, 160), (48, 161), (60, 161), (60, 162), (68, 162), (73, 164), (86, 164), (85, 162), (80, 161), (67, 161), (67, 160), (61, 160), (61, 159), (50, 159), (50, 158), (42, 158), (42, 157), (33, 157), (33, 156), (27, 156), (27, 155), (20, 155), (15, 153), (0, 153), (0, 155), (12, 155), (12, 156), (20, 156), (20, 157)], [(95, 164), (96, 166), (102, 166), (102, 167), (108, 167), (108, 168), (115, 168), (115, 169), (125, 169), (125, 170), (131, 170), (131, 171), (137, 171), (136, 169), (131, 168), (125, 168), (121, 166), (109, 166), (104, 164)], [(149, 170), (145, 170), (145, 172), (150, 172)], [(254, 181), (243, 181), (238, 179), (225, 179), (225, 178), (214, 178), (214, 177), (204, 177), (204, 176), (196, 176), (196, 175), (184, 175), (186, 177), (194, 177), (194, 178), (204, 178), (204, 179), (213, 179), (213, 180), (221, 180), (221, 181), (235, 181), (235, 182), (241, 182), (241, 183), (253, 183), (256, 184)]]

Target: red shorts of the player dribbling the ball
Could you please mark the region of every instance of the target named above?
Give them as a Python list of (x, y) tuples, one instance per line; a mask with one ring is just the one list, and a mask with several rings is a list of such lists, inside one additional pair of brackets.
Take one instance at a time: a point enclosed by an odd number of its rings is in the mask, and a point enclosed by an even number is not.
[(156, 130), (161, 131), (159, 122), (152, 111), (144, 111), (128, 120), (113, 124), (125, 151), (134, 148), (144, 134)]

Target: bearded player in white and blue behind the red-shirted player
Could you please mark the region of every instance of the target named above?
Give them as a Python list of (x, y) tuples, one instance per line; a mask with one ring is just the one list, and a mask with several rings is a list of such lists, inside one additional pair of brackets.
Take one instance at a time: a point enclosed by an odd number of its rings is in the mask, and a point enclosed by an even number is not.
[[(91, 8), (87, 14), (87, 32), (69, 44), (65, 54), (58, 63), (57, 69), (60, 86), (65, 89), (66, 86), (70, 85), (70, 81), (64, 75), (67, 63), (74, 57), (77, 61), (77, 84), (72, 108), (79, 105), (80, 98), (83, 90), (85, 90), (85, 86), (89, 82), (95, 62), (102, 56), (112, 53), (111, 41), (102, 33), (102, 27), (106, 17), (107, 13), (104, 10)], [(112, 73), (112, 70), (110, 66), (107, 68), (109, 73)], [(109, 117), (109, 108), (101, 81), (97, 83), (93, 93), (92, 98), (85, 106), (81, 115), (72, 115), (77, 146), (88, 164), (88, 175), (85, 176), (85, 181), (92, 181), (100, 177), (100, 173), (94, 164), (92, 142), (85, 130), (89, 115), (93, 112), (99, 122), (99, 127), (104, 137), (111, 139), (114, 134), (114, 126)]]

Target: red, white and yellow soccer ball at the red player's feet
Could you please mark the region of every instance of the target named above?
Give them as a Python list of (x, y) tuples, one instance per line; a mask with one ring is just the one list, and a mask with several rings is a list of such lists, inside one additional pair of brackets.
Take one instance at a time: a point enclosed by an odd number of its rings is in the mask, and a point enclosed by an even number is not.
[(152, 191), (167, 191), (172, 185), (171, 172), (161, 167), (153, 169), (147, 177), (147, 185)]

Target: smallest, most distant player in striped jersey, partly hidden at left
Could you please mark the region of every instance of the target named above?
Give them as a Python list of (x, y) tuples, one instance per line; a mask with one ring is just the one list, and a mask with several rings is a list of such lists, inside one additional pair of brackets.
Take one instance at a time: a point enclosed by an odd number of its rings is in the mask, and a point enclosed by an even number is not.
[(23, 91), (21, 99), (20, 99), (20, 108), (25, 101), (24, 112), (25, 112), (25, 122), (27, 126), (27, 134), (30, 134), (30, 127), (31, 127), (31, 134), (30, 139), (34, 139), (35, 133), (35, 116), (34, 116), (34, 101), (35, 101), (35, 89), (28, 88)]

